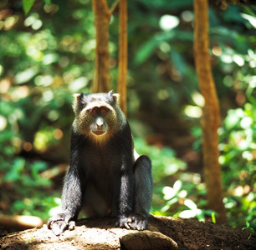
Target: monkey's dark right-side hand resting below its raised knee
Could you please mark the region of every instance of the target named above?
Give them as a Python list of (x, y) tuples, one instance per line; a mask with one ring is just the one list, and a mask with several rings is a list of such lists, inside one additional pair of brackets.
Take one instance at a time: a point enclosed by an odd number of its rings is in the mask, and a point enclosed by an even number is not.
[(115, 227), (145, 230), (147, 227), (147, 218), (139, 213), (132, 213), (128, 218), (121, 217), (118, 222), (115, 223)]

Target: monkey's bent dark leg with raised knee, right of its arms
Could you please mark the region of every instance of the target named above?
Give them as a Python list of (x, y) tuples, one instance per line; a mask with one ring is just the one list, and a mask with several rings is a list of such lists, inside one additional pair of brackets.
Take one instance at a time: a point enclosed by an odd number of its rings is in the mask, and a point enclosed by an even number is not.
[(132, 229), (144, 230), (147, 227), (151, 209), (153, 179), (151, 175), (151, 160), (141, 156), (134, 166), (135, 177), (135, 207), (134, 213), (128, 218), (128, 226)]

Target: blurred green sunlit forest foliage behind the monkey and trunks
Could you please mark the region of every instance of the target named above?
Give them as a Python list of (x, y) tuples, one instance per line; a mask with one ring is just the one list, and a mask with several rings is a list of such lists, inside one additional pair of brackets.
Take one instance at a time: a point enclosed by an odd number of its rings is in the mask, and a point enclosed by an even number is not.
[[(74, 92), (90, 92), (95, 27), (90, 0), (0, 2), (0, 213), (56, 213), (69, 164)], [(108, 1), (111, 5), (114, 1)], [(256, 7), (209, 1), (212, 71), (221, 108), (219, 162), (228, 224), (256, 230)], [(128, 118), (150, 156), (151, 213), (212, 220), (202, 176), (192, 0), (128, 1)], [(110, 21), (111, 87), (118, 9)]]

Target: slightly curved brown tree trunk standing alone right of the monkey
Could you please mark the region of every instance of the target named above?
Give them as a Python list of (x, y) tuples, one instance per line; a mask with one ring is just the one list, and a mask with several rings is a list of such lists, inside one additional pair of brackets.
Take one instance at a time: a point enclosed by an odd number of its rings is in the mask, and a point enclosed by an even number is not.
[(202, 115), (202, 153), (203, 171), (207, 187), (209, 208), (216, 211), (218, 223), (226, 223), (226, 212), (223, 205), (221, 168), (218, 163), (218, 97), (212, 77), (208, 55), (208, 6), (207, 0), (194, 0), (195, 32), (194, 51), (197, 77), (205, 106)]

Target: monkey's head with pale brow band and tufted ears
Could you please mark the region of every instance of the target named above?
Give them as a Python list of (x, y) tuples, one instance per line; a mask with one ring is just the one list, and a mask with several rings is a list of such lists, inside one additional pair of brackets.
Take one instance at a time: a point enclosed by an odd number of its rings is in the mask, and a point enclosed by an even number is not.
[(118, 99), (119, 95), (112, 91), (74, 94), (74, 129), (98, 142), (110, 138), (125, 124)]

